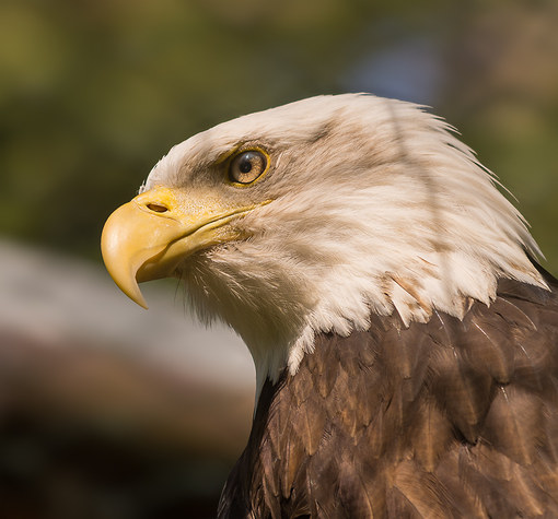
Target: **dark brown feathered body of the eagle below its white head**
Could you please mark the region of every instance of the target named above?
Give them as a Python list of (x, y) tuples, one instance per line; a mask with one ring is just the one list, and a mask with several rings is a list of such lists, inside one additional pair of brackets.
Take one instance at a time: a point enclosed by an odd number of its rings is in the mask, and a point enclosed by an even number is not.
[(558, 284), (322, 334), (265, 384), (221, 518), (558, 517)]

